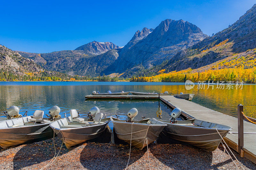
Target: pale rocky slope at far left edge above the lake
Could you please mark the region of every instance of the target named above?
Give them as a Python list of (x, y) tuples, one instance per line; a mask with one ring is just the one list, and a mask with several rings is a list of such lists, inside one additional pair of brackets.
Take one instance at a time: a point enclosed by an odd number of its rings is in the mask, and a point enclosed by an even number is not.
[(18, 52), (3, 45), (0, 45), (0, 69), (17, 75), (24, 75), (24, 72), (43, 71), (34, 60), (22, 57)]

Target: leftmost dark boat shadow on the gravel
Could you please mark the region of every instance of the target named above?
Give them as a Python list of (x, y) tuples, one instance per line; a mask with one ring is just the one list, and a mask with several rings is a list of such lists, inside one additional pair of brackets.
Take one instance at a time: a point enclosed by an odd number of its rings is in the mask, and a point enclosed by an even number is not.
[[(55, 137), (54, 141), (57, 155), (60, 151), (62, 141), (59, 137)], [(72, 148), (67, 149), (65, 144), (63, 144), (59, 156), (69, 152), (70, 150), (72, 150)], [(13, 169), (20, 169), (34, 164), (39, 164), (41, 162), (52, 159), (53, 156), (53, 139), (47, 139), (36, 143), (26, 144), (14, 155)]]

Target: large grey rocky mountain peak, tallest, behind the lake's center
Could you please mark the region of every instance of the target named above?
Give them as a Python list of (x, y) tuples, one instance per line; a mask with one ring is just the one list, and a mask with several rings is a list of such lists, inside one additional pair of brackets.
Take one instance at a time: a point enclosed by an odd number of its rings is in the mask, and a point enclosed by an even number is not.
[(115, 67), (109, 68), (108, 72), (122, 72), (140, 63), (149, 68), (171, 59), (178, 52), (207, 37), (196, 25), (172, 19), (162, 21), (151, 33), (147, 28), (142, 32), (146, 36), (140, 38), (140, 32), (136, 32), (127, 47), (121, 50)]

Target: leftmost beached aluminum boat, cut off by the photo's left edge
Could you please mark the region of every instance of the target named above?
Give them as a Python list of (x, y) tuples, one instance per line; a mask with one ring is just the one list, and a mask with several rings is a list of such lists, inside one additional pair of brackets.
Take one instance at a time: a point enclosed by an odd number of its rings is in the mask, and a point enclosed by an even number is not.
[[(44, 111), (41, 110), (36, 110), (33, 116), (21, 117), (19, 110), (16, 106), (8, 108), (6, 114), (9, 119), (0, 122), (0, 146), (2, 148), (53, 137), (53, 130), (49, 124), (61, 118), (58, 106), (50, 109), (48, 118), (43, 118)], [(13, 116), (18, 118), (11, 119)]]

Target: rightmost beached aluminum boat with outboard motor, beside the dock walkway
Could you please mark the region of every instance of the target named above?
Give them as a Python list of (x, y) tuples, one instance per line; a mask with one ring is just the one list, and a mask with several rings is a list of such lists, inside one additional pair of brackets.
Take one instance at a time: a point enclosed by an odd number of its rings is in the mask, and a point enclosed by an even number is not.
[(221, 142), (221, 137), (225, 137), (232, 129), (226, 125), (206, 122), (198, 119), (184, 121), (176, 120), (180, 114), (181, 110), (179, 108), (175, 108), (170, 114), (172, 118), (169, 121), (161, 120), (161, 122), (166, 123), (167, 126), (164, 127), (159, 137), (169, 137), (171, 139), (194, 145), (205, 151), (212, 152), (218, 148)]

